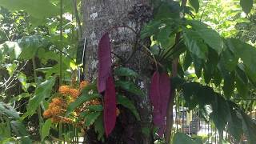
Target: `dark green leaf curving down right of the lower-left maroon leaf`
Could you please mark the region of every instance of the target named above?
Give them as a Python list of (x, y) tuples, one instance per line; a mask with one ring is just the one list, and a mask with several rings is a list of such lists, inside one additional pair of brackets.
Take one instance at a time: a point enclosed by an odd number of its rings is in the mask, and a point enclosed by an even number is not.
[(137, 118), (138, 121), (141, 120), (141, 118), (139, 117), (138, 111), (134, 106), (134, 102), (130, 101), (130, 99), (126, 98), (125, 96), (118, 95), (118, 104), (130, 110), (134, 114), (135, 118)]

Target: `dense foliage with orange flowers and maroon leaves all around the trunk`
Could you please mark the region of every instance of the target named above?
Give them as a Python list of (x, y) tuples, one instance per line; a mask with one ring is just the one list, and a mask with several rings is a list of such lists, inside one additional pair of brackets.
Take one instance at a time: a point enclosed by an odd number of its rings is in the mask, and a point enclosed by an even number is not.
[(252, 0), (159, 0), (151, 2), (153, 16), (139, 33), (120, 26), (138, 35), (131, 54), (142, 51), (150, 60), (149, 91), (125, 66), (131, 57), (113, 60), (107, 30), (98, 42), (98, 78), (84, 78), (81, 3), (0, 0), (2, 143), (86, 142), (91, 134), (113, 143), (122, 118), (140, 121), (133, 97), (150, 98), (154, 124), (141, 131), (156, 143), (203, 143), (172, 129), (179, 101), (218, 129), (220, 143), (256, 142), (249, 116), (255, 102), (245, 101), (256, 86)]

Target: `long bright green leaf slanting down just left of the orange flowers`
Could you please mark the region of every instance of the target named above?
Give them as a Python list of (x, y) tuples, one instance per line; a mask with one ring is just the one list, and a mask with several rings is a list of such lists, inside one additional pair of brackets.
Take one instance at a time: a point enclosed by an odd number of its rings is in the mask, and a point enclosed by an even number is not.
[(29, 104), (26, 107), (26, 114), (24, 114), (22, 118), (26, 118), (26, 116), (34, 114), (34, 111), (37, 110), (42, 100), (50, 97), (54, 84), (55, 77), (49, 77), (45, 82), (42, 82), (38, 85), (34, 91), (34, 97), (30, 98)]

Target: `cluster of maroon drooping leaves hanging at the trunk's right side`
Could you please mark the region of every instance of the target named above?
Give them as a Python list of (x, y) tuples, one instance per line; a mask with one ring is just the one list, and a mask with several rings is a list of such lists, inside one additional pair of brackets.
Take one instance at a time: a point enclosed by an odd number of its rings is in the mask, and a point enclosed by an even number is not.
[(168, 74), (154, 72), (150, 84), (150, 100), (154, 107), (153, 122), (158, 126), (158, 134), (162, 136), (166, 128), (166, 110), (170, 100), (170, 78)]

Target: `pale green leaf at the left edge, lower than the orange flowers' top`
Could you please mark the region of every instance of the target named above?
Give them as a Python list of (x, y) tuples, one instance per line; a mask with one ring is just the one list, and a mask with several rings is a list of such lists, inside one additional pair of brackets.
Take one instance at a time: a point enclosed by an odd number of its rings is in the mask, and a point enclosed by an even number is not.
[(18, 112), (12, 106), (3, 102), (0, 102), (0, 114), (4, 114), (8, 118), (20, 118)]

